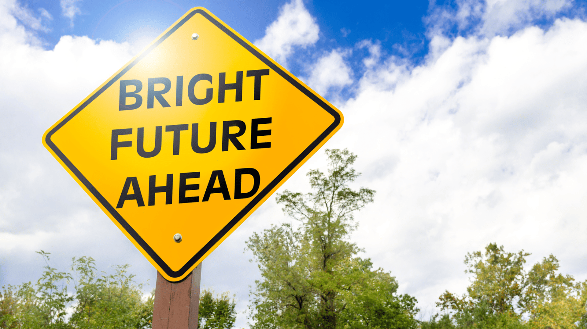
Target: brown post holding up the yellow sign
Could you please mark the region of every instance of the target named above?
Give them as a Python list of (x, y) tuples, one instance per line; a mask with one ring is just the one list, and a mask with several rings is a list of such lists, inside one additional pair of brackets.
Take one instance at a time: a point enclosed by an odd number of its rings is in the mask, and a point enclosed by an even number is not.
[(153, 329), (197, 329), (202, 263), (181, 282), (168, 282), (157, 272)]

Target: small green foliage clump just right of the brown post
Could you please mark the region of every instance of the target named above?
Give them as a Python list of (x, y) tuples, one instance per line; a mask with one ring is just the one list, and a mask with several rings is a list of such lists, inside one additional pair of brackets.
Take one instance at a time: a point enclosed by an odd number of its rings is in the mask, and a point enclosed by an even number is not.
[[(213, 296), (214, 291), (204, 289), (200, 293), (200, 309), (198, 310), (198, 328), (230, 329), (237, 320), (236, 301), (224, 292)], [(202, 324), (203, 323), (203, 324)]]

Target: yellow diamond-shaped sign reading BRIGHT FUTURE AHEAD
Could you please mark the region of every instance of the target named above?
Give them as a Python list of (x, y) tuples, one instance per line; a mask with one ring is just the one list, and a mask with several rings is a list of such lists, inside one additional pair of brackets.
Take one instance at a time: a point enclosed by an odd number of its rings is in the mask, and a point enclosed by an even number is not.
[(176, 282), (342, 122), (328, 101), (194, 8), (49, 128), (43, 144)]

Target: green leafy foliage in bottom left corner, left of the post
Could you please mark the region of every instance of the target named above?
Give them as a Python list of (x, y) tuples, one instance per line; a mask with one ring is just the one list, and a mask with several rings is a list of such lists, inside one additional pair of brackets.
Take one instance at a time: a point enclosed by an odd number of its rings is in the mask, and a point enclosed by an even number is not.
[(143, 285), (127, 273), (129, 265), (98, 273), (92, 258), (73, 258), (67, 273), (49, 266), (50, 253), (39, 254), (46, 266), (36, 283), (2, 287), (0, 328), (151, 328), (152, 294), (142, 298)]

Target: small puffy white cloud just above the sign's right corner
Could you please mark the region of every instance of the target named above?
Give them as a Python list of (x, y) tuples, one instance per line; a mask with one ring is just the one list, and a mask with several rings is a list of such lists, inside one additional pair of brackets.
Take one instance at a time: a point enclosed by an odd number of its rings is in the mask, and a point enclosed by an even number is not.
[(318, 94), (326, 94), (330, 88), (342, 88), (353, 82), (352, 70), (345, 63), (344, 56), (348, 53), (332, 50), (313, 64), (308, 85)]

